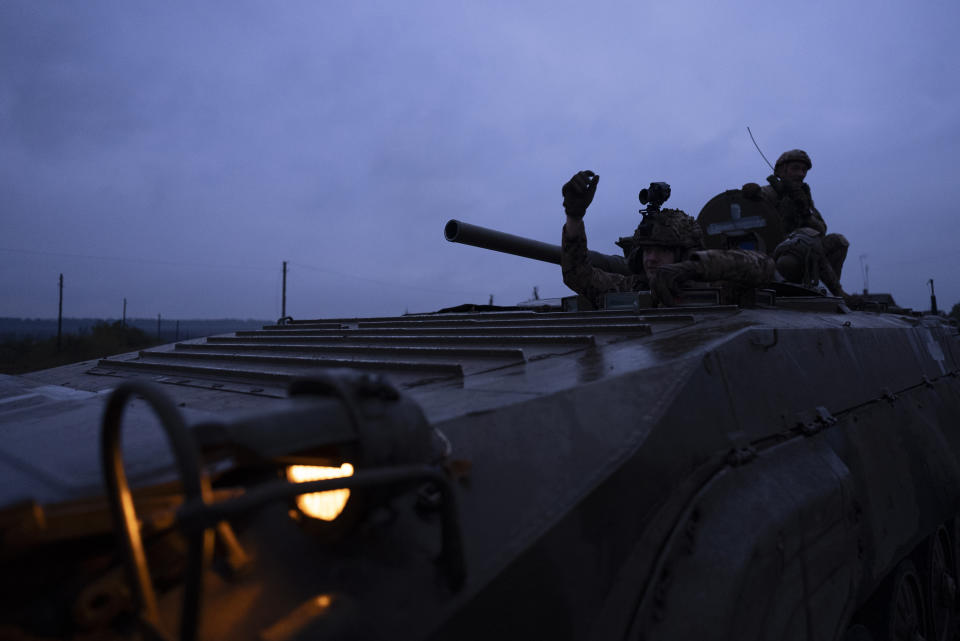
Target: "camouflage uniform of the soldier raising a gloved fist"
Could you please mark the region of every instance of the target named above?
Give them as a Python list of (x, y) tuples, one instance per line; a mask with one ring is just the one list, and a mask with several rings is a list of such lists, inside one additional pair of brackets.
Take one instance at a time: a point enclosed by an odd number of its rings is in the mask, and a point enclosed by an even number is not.
[[(686, 214), (679, 213), (689, 218)], [(590, 264), (583, 221), (576, 221), (576, 225), (578, 228), (570, 230), (566, 225), (563, 227), (560, 253), (563, 282), (598, 307), (603, 295), (611, 292), (650, 289), (659, 299), (670, 304), (670, 290), (674, 290), (683, 281), (686, 281), (688, 286), (695, 285), (696, 282), (729, 281), (745, 287), (756, 287), (774, 278), (774, 263), (766, 254), (748, 249), (705, 250), (701, 249), (702, 241), (699, 243), (700, 248), (681, 249), (682, 253), (678, 256), (680, 262), (660, 267), (654, 274), (652, 283), (640, 273), (624, 276), (605, 272)], [(637, 243), (641, 247), (643, 244), (643, 239)], [(638, 261), (636, 257), (632, 257), (630, 262), (636, 265)]]

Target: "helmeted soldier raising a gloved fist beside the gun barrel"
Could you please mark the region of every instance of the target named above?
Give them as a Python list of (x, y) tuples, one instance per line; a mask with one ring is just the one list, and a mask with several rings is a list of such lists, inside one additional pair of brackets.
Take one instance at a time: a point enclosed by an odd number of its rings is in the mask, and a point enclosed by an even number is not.
[(703, 231), (679, 209), (650, 213), (634, 234), (628, 257), (632, 275), (614, 274), (590, 263), (583, 217), (593, 202), (600, 176), (581, 171), (563, 186), (567, 223), (561, 240), (563, 282), (599, 307), (603, 295), (649, 289), (654, 303), (672, 305), (684, 283), (731, 281), (755, 287), (774, 278), (773, 261), (745, 249), (705, 250)]

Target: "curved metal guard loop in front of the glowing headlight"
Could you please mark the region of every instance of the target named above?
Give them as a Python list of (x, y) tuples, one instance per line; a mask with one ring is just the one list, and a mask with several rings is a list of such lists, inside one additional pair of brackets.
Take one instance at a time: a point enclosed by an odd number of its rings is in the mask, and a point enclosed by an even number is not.
[[(204, 474), (193, 437), (173, 402), (160, 390), (147, 383), (131, 381), (118, 386), (107, 400), (100, 432), (100, 455), (107, 500), (123, 555), (127, 580), (133, 592), (141, 622), (153, 634), (162, 636), (156, 594), (150, 579), (137, 514), (130, 485), (123, 469), (120, 428), (123, 410), (134, 396), (141, 396), (156, 412), (166, 432), (183, 484), (184, 501), (209, 503), (210, 481)], [(187, 533), (187, 568), (184, 577), (183, 608), (180, 613), (180, 635), (183, 641), (197, 636), (200, 620), (203, 571), (210, 558), (213, 532), (209, 528)]]

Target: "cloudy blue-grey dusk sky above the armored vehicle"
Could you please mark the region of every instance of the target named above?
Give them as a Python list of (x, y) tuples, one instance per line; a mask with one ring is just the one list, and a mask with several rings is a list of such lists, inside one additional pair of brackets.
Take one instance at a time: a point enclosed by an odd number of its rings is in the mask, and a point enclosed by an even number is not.
[[(725, 6), (729, 4), (730, 6)], [(0, 3), (0, 316), (271, 319), (512, 304), (669, 182), (696, 214), (800, 147), (848, 291), (960, 302), (956, 0)], [(861, 258), (864, 257), (864, 258)]]

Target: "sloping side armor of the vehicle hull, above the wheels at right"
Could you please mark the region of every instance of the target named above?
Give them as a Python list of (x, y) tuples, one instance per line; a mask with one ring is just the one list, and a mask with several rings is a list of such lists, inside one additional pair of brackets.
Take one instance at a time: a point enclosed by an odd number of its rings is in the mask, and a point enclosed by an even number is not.
[[(941, 370), (927, 331), (747, 327), (672, 361), (669, 382), (647, 369), (622, 388), (577, 390), (559, 414), (581, 424), (582, 393), (602, 412), (587, 424), (623, 425), (636, 441), (607, 452), (600, 467), (615, 471), (497, 576), (450, 638), (842, 638), (883, 577), (957, 513), (956, 351)], [(897, 391), (884, 385), (894, 381)], [(652, 407), (612, 407), (643, 388)], [(480, 616), (530, 591), (543, 609), (529, 618)], [(491, 627), (473, 637), (477, 621)]]

